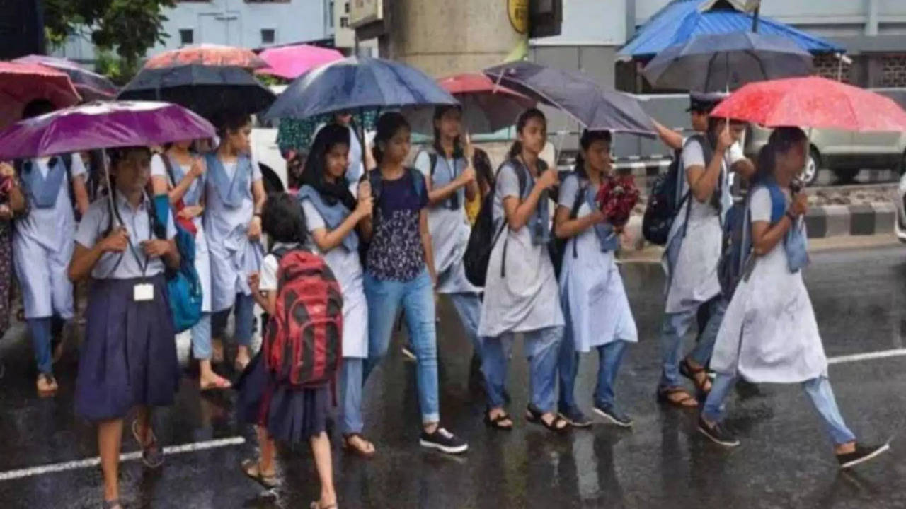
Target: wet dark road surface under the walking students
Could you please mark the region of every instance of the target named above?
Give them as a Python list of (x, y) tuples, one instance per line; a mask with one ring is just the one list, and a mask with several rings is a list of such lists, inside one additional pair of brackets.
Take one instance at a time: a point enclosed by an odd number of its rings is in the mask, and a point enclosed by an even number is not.
[[(866, 442), (893, 437), (892, 453), (852, 473), (838, 471), (823, 429), (795, 386), (762, 386), (760, 397), (731, 399), (728, 424), (742, 440), (731, 451), (697, 434), (693, 412), (660, 407), (654, 387), (663, 277), (655, 264), (626, 264), (622, 272), (641, 338), (629, 349), (618, 382), (633, 429), (598, 423), (558, 437), (521, 418), (511, 433), (487, 429), (484, 399), (469, 388), (470, 347), (443, 303), (441, 415), (445, 427), (467, 438), (469, 452), (450, 457), (419, 449), (414, 365), (391, 347), (365, 388), (365, 434), (378, 456), (345, 456), (334, 444), (340, 507), (906, 507), (906, 440), (900, 434), (906, 357), (851, 357), (903, 348), (906, 249), (817, 254), (807, 271), (827, 355), (843, 360), (831, 366), (830, 377), (844, 418)], [(11, 471), (18, 477), (0, 480), (0, 507), (99, 507), (97, 466), (21, 471), (97, 454), (92, 426), (72, 413), (72, 351), (58, 365), (62, 390), (55, 399), (34, 396), (31, 351), (21, 327), (0, 342), (0, 359), (0, 479)], [(594, 354), (583, 356), (576, 388), (589, 414), (596, 366)], [(283, 486), (275, 497), (265, 496), (237, 467), (255, 448), (251, 429), (236, 424), (233, 395), (199, 396), (192, 377), (187, 371), (177, 404), (156, 414), (157, 434), (164, 445), (210, 448), (170, 455), (158, 473), (143, 472), (139, 461), (125, 462), (127, 507), (308, 507), (318, 486), (307, 447), (282, 450)], [(525, 359), (516, 349), (509, 373), (514, 416), (525, 408), (526, 384)], [(138, 448), (129, 435), (127, 452)], [(212, 442), (232, 437), (246, 443)]]

